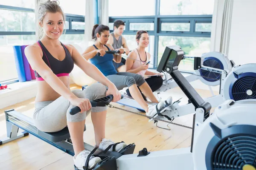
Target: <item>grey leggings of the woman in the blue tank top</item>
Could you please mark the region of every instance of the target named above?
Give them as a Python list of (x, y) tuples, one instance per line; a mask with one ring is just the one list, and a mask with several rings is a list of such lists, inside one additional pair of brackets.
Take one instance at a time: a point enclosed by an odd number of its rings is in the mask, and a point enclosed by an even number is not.
[(118, 90), (122, 90), (123, 88), (130, 87), (134, 84), (137, 84), (140, 87), (146, 82), (140, 74), (128, 72), (119, 72), (117, 74), (109, 75), (107, 78), (116, 85)]

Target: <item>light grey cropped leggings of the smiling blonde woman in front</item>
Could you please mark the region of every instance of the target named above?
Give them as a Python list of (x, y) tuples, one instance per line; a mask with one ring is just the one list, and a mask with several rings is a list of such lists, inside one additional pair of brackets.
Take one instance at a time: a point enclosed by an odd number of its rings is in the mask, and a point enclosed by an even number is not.
[[(106, 96), (106, 86), (100, 83), (94, 83), (88, 86), (84, 91), (79, 89), (73, 90), (73, 94), (79, 98), (95, 100)], [(33, 119), (35, 126), (44, 132), (57, 132), (67, 126), (68, 122), (81, 122), (90, 113), (85, 111), (70, 115), (69, 111), (73, 106), (69, 100), (60, 96), (54, 101), (44, 101), (35, 103), (35, 112)], [(92, 112), (106, 111), (107, 107), (93, 107)]]

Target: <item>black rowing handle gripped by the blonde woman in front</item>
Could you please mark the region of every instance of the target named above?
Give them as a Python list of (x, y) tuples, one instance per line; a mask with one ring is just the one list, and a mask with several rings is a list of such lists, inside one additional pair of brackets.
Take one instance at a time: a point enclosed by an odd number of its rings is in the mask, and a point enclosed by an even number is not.
[[(123, 98), (123, 95), (121, 95), (121, 99)], [(113, 100), (113, 95), (108, 95), (106, 97), (102, 97), (101, 99), (96, 99), (93, 101), (90, 101), (92, 107), (104, 107), (106, 105), (108, 105), (111, 101)], [(76, 113), (79, 113), (81, 111), (81, 109), (76, 106), (72, 109), (70, 109), (70, 114), (71, 115), (75, 115)]]

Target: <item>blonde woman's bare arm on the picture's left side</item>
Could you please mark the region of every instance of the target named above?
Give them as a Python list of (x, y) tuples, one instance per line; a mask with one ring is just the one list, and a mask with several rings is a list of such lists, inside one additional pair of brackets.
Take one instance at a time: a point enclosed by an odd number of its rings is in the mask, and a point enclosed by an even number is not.
[(64, 83), (52, 72), (48, 65), (42, 59), (41, 48), (37, 45), (29, 45), (25, 48), (25, 54), (31, 65), (31, 68), (61, 96), (68, 100), (73, 100), (76, 96), (64, 85)]

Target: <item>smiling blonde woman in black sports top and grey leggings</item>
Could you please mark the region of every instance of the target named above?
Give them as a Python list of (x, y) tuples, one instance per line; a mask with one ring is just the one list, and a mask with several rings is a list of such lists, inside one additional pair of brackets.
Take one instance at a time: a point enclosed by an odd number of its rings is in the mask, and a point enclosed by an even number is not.
[[(79, 54), (76, 48), (72, 45), (64, 45), (58, 40), (63, 33), (65, 23), (65, 15), (58, 1), (48, 0), (47, 3), (40, 4), (38, 18), (43, 35), (39, 37), (40, 41), (25, 49), (26, 57), (40, 81), (35, 101), (34, 123), (39, 130), (45, 132), (57, 132), (68, 127), (73, 142), (74, 164), (78, 169), (83, 169), (89, 155), (84, 149), (83, 142), (86, 112), (90, 113), (90, 110), (92, 112), (96, 147), (105, 150), (114, 143), (105, 139), (107, 107), (92, 108), (90, 100), (113, 94), (115, 102), (120, 99), (121, 94), (111, 81)], [(74, 63), (85, 74), (100, 83), (95, 83), (84, 91), (78, 89), (70, 91), (68, 74), (72, 71)], [(75, 106), (81, 109), (81, 113), (70, 115), (70, 109)], [(117, 144), (115, 151), (125, 146), (124, 142)], [(93, 168), (99, 161), (101, 161), (99, 157), (91, 156), (88, 168)]]

